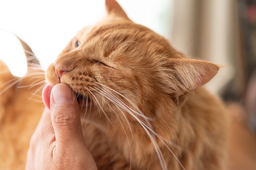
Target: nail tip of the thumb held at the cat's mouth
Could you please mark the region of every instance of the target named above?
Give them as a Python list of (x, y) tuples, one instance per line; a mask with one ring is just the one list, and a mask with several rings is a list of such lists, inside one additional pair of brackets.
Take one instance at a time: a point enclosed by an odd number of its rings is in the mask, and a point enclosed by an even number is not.
[(53, 86), (52, 96), (54, 103), (72, 102), (73, 95), (70, 87), (67, 84), (59, 83)]

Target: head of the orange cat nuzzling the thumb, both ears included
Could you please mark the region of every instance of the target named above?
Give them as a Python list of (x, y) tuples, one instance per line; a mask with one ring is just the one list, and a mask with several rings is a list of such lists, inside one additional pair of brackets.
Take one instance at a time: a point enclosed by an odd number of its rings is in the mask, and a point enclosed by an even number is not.
[(145, 107), (161, 96), (175, 100), (217, 73), (218, 66), (184, 58), (162, 36), (133, 23), (115, 0), (106, 0), (106, 8), (108, 16), (79, 31), (49, 66), (48, 82), (67, 83), (80, 100), (102, 107), (129, 101), (150, 110)]

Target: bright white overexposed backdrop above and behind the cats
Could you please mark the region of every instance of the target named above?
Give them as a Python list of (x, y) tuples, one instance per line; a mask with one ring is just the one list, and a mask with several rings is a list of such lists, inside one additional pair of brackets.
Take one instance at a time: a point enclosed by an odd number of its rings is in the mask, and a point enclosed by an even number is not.
[[(117, 1), (130, 19), (170, 37), (172, 0)], [(46, 69), (79, 29), (104, 15), (104, 0), (1, 0), (0, 58), (15, 75), (26, 73), (25, 55), (8, 31), (23, 39)]]

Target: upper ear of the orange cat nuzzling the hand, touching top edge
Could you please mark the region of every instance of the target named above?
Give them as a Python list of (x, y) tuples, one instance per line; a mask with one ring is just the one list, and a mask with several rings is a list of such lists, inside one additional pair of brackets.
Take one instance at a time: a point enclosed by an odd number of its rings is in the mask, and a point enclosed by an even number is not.
[(108, 14), (114, 13), (114, 15), (128, 19), (126, 13), (121, 6), (115, 0), (106, 0), (106, 9)]

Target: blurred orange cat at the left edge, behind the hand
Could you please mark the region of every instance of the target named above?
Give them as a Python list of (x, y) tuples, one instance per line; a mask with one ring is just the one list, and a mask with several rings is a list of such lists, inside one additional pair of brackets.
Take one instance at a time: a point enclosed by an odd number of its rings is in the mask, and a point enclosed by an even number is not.
[(31, 48), (19, 40), (26, 51), (26, 76), (13, 76), (0, 61), (0, 169), (4, 170), (25, 169), (29, 141), (45, 107), (44, 71)]

